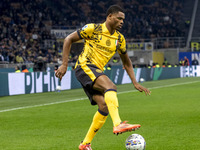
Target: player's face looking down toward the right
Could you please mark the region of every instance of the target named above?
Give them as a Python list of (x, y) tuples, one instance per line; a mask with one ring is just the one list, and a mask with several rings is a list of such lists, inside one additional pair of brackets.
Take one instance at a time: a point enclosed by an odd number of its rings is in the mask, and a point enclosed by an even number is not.
[(124, 24), (125, 14), (123, 12), (118, 12), (112, 14), (112, 25), (116, 30), (120, 30)]

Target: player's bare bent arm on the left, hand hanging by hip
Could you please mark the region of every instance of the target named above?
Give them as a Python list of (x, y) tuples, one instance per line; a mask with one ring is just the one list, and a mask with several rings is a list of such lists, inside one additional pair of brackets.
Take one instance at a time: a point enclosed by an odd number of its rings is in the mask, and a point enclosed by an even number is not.
[(58, 68), (58, 70), (55, 73), (56, 77), (58, 77), (60, 80), (62, 80), (62, 77), (65, 75), (65, 73), (67, 71), (68, 57), (69, 57), (71, 45), (72, 45), (72, 43), (74, 43), (78, 40), (80, 40), (80, 37), (78, 36), (77, 31), (68, 35), (64, 40), (62, 65)]

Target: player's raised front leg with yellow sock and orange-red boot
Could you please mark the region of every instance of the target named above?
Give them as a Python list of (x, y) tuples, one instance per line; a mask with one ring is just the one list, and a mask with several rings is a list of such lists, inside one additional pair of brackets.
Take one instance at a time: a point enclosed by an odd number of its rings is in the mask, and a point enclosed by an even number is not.
[(119, 134), (140, 128), (139, 124), (132, 125), (121, 121), (118, 111), (119, 104), (117, 98), (117, 87), (106, 75), (99, 76), (96, 79), (93, 88), (104, 92), (105, 103), (107, 104), (109, 114), (114, 125), (114, 134)]

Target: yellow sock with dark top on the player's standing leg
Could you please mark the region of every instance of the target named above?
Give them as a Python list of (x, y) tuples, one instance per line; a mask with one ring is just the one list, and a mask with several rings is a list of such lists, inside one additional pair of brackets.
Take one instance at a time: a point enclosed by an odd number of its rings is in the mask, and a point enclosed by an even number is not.
[[(102, 115), (102, 114), (103, 115)], [(107, 119), (107, 115), (108, 114), (104, 114), (104, 112), (101, 112), (100, 110), (98, 110), (96, 112), (96, 114), (93, 117), (93, 121), (92, 124), (90, 126), (90, 129), (88, 130), (85, 139), (83, 140), (82, 144), (87, 144), (87, 143), (91, 143), (92, 139), (94, 138), (94, 136), (96, 135), (97, 131), (103, 126), (103, 124), (105, 123), (106, 119)]]

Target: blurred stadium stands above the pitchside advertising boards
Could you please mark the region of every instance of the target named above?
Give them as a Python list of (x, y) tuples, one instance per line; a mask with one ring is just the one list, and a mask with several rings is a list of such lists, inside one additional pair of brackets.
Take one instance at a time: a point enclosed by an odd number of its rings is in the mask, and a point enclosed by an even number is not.
[[(111, 4), (125, 10), (121, 32), (133, 65), (162, 66), (165, 60), (179, 65), (179, 52), (199, 52), (198, 0), (1, 0), (0, 67), (34, 68), (41, 59), (47, 66), (59, 65), (63, 39), (86, 23), (103, 22)], [(72, 64), (82, 46), (83, 41), (73, 45)]]

